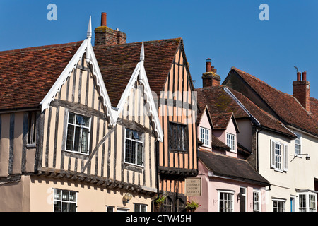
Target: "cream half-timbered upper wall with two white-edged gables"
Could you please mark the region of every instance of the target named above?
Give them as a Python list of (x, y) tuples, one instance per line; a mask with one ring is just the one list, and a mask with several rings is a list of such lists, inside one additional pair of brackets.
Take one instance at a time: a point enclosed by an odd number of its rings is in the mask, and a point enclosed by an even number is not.
[[(79, 176), (105, 177), (154, 191), (155, 136), (149, 117), (145, 117), (144, 107), (147, 105), (143, 100), (142, 86), (136, 82), (117, 124), (109, 126), (95, 84), (86, 61), (79, 61), (55, 100), (45, 109), (40, 168), (69, 170)], [(69, 112), (90, 117), (88, 154), (66, 150)], [(143, 166), (124, 161), (126, 128), (143, 133)]]

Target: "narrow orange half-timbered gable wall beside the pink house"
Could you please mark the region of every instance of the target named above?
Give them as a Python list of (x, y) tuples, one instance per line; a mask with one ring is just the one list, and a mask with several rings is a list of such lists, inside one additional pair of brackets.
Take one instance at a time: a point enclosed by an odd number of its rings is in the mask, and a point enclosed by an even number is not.
[[(184, 193), (184, 177), (191, 177), (197, 169), (196, 160), (196, 95), (192, 92), (191, 78), (182, 48), (179, 47), (167, 76), (164, 90), (160, 93), (158, 114), (165, 134), (160, 143), (160, 190)], [(172, 150), (170, 123), (186, 128), (187, 150)], [(182, 139), (179, 137), (178, 139)], [(179, 180), (165, 175), (183, 175)]]

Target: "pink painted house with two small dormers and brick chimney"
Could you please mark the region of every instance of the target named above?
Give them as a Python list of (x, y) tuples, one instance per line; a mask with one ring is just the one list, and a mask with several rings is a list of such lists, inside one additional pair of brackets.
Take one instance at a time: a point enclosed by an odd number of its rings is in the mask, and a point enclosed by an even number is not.
[(202, 76), (204, 87), (196, 90), (201, 196), (190, 200), (200, 203), (198, 212), (261, 212), (269, 182), (247, 162), (251, 151), (237, 142), (236, 119), (249, 116), (223, 90), (220, 76), (208, 63)]

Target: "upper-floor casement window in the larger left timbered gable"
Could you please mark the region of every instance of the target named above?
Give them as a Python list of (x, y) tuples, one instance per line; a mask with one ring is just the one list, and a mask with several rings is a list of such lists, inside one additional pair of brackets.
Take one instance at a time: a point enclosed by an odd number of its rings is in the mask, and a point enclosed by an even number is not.
[(90, 118), (69, 112), (66, 135), (66, 150), (88, 154)]

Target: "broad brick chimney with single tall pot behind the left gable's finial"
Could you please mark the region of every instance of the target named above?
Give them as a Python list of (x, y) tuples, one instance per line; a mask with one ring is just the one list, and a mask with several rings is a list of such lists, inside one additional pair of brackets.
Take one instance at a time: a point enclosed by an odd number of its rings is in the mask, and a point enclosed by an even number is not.
[(100, 27), (95, 28), (95, 46), (125, 44), (126, 34), (107, 27), (107, 13), (102, 13)]

